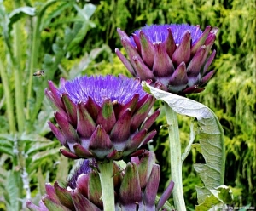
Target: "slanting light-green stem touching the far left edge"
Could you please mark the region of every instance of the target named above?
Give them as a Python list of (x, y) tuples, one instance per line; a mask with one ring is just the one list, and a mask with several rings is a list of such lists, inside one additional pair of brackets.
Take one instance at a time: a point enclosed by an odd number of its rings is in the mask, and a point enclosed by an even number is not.
[(3, 66), (3, 61), (1, 59), (0, 59), (0, 77), (2, 78), (2, 83), (3, 83), (3, 92), (5, 95), (5, 101), (6, 101), (9, 131), (11, 134), (15, 134), (16, 128), (15, 128), (14, 102), (10, 93), (9, 78)]

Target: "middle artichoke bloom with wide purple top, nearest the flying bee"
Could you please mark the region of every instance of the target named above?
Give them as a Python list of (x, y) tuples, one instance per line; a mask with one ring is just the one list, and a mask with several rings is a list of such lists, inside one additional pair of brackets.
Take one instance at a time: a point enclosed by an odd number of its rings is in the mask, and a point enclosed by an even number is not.
[(155, 99), (143, 91), (139, 79), (84, 76), (66, 82), (61, 78), (61, 88), (49, 81), (45, 94), (59, 125), (49, 122), (49, 128), (68, 149), (61, 150), (66, 157), (121, 159), (156, 134), (148, 133), (148, 128), (160, 111), (148, 117)]

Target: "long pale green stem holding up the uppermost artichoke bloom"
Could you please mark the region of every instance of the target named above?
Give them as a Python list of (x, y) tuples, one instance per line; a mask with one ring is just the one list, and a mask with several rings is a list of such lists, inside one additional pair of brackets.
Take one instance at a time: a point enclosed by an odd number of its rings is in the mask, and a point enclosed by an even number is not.
[(170, 160), (171, 160), (171, 176), (174, 182), (172, 191), (174, 205), (177, 211), (185, 211), (186, 206), (183, 197), (183, 174), (181, 159), (181, 144), (179, 139), (179, 129), (177, 124), (177, 113), (165, 103), (166, 120), (168, 124)]

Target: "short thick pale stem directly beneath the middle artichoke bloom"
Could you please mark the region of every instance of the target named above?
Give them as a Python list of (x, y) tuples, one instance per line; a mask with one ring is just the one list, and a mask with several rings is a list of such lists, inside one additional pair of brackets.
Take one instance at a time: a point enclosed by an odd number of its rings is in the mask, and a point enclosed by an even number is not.
[(113, 211), (115, 210), (113, 191), (113, 161), (108, 163), (98, 163), (98, 168), (100, 170), (104, 211)]

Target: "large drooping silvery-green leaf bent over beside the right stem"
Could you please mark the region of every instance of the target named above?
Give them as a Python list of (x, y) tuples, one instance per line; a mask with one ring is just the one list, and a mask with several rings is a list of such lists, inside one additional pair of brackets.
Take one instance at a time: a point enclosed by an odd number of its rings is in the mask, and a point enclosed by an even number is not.
[(164, 101), (178, 114), (197, 119), (200, 126), (198, 136), (201, 153), (206, 163), (196, 163), (194, 168), (205, 185), (196, 188), (198, 202), (204, 202), (205, 198), (211, 195), (210, 190), (224, 184), (224, 131), (218, 118), (211, 109), (195, 100), (167, 93), (144, 82), (143, 88), (153, 94), (157, 100)]

